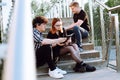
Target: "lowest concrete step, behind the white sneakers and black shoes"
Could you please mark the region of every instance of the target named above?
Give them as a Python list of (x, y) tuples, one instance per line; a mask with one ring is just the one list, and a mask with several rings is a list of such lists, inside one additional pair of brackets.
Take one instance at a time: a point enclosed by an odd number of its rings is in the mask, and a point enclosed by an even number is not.
[[(95, 66), (97, 69), (103, 68), (106, 66), (106, 61), (96, 58), (96, 59), (88, 59), (84, 60), (85, 63)], [(63, 70), (66, 70), (68, 73), (74, 72), (73, 67), (75, 66), (75, 62), (73, 60), (68, 61), (60, 61), (57, 66)], [(48, 73), (48, 66), (45, 64), (44, 66), (37, 69), (37, 75), (46, 75)]]

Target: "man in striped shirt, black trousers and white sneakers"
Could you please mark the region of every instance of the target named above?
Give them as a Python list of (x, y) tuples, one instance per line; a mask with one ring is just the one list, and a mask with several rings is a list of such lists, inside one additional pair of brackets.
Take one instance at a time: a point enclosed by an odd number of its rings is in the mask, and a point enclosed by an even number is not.
[(38, 68), (47, 63), (49, 67), (48, 74), (50, 77), (63, 78), (63, 74), (66, 74), (66, 72), (56, 67), (51, 56), (51, 44), (59, 44), (61, 42), (64, 42), (66, 38), (44, 38), (42, 32), (45, 31), (47, 22), (48, 19), (42, 16), (38, 16), (33, 19), (33, 39), (35, 47), (36, 67)]

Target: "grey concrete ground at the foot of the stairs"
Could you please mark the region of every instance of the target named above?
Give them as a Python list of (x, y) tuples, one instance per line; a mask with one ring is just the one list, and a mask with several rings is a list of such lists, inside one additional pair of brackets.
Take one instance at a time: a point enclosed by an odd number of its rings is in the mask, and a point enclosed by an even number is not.
[(37, 76), (37, 80), (120, 80), (120, 73), (110, 68), (103, 68), (95, 72), (68, 73), (62, 79), (54, 79), (45, 76)]

